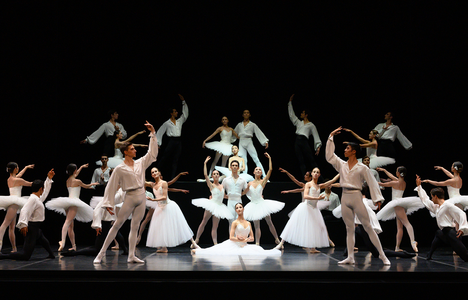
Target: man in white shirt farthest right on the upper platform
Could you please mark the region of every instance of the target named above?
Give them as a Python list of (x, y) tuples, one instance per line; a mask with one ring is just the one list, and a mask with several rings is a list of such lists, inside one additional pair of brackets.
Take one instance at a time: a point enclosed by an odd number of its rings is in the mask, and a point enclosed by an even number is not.
[(392, 112), (387, 112), (385, 114), (385, 123), (380, 123), (375, 126), (374, 130), (377, 130), (379, 133), (380, 145), (377, 149), (377, 156), (386, 156), (396, 158), (396, 151), (393, 142), (395, 139), (398, 139), (401, 145), (409, 150), (413, 144), (406, 138), (406, 136), (401, 133), (401, 130), (398, 126), (393, 125), (393, 114)]

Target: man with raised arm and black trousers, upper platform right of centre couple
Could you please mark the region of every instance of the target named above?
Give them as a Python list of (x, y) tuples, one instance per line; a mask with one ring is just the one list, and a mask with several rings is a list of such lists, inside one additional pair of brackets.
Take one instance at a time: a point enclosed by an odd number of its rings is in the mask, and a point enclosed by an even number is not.
[(288, 103), (289, 118), (296, 126), (296, 141), (294, 142), (294, 150), (299, 160), (301, 172), (305, 174), (306, 164), (304, 161), (304, 157), (309, 160), (312, 169), (317, 167), (317, 163), (314, 159), (314, 153), (312, 152), (312, 149), (309, 145), (309, 136), (312, 135), (314, 138), (314, 149), (316, 151), (315, 155), (319, 155), (320, 147), (322, 146), (322, 141), (320, 140), (317, 128), (311, 121), (309, 121), (309, 112), (307, 110), (303, 110), (301, 112), (302, 121), (299, 120), (296, 114), (294, 113), (293, 97), (294, 94), (291, 96), (291, 98), (289, 98)]

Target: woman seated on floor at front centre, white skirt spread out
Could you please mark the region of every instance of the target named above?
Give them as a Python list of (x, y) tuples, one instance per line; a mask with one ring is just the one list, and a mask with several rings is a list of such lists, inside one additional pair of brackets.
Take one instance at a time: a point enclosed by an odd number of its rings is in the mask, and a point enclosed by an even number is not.
[(196, 255), (267, 255), (281, 256), (278, 249), (265, 250), (259, 245), (248, 244), (254, 241), (254, 231), (249, 221), (244, 218), (244, 205), (235, 205), (238, 218), (232, 222), (229, 239), (209, 248), (192, 249)]

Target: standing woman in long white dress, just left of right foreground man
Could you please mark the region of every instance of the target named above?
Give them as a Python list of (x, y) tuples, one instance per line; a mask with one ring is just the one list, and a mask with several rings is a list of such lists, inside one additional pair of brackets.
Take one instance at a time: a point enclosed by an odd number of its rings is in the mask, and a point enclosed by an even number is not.
[(319, 177), (320, 169), (316, 167), (312, 170), (312, 180), (304, 186), (304, 199), (306, 201), (301, 202), (294, 210), (281, 233), (281, 242), (275, 247), (276, 249), (280, 249), (287, 241), (310, 248), (311, 253), (320, 253), (316, 247), (323, 248), (333, 244), (328, 237), (327, 227), (322, 213), (317, 207), (317, 202), (325, 198), (325, 195), (320, 195), (320, 189), (330, 186), (340, 175), (337, 174), (333, 179), (317, 184)]

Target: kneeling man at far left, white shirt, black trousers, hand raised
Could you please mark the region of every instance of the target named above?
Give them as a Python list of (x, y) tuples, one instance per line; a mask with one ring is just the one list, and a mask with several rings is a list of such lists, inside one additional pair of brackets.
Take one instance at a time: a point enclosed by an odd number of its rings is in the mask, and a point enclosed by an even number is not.
[(31, 183), (32, 194), (20, 212), (20, 218), (16, 225), (20, 228), (21, 234), (25, 237), (22, 252), (13, 252), (2, 255), (0, 259), (16, 259), (29, 260), (33, 254), (36, 242), (39, 242), (49, 252), (46, 258), (55, 258), (54, 252), (51, 249), (49, 240), (44, 236), (41, 230), (41, 223), (45, 219), (44, 200), (47, 198), (52, 185), (52, 177), (54, 177), (54, 169), (47, 173), (46, 182), (36, 179)]

